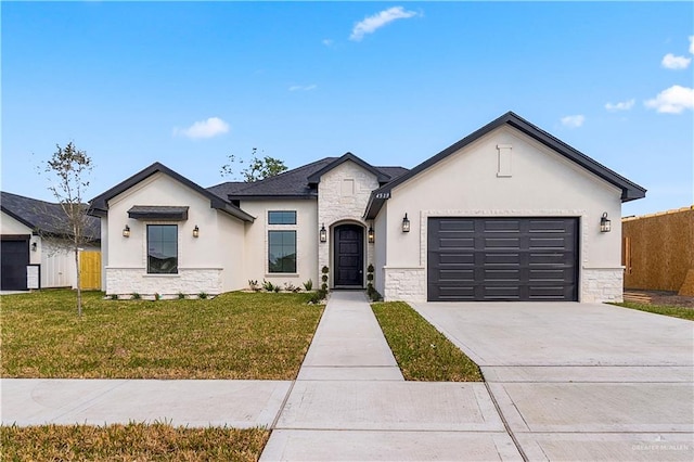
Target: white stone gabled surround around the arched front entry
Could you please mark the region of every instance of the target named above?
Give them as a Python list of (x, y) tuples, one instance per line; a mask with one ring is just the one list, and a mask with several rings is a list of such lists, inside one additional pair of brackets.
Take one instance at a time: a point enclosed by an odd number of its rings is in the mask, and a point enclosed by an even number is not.
[[(354, 180), (354, 193), (343, 193), (343, 182)], [(332, 286), (333, 268), (331, 261), (332, 227), (339, 222), (358, 222), (364, 227), (364, 242), (367, 242), (365, 230), (369, 229), (362, 217), (367, 209), (367, 203), (371, 192), (378, 188), (378, 180), (370, 171), (364, 170), (351, 161), (347, 161), (333, 168), (321, 177), (318, 184), (318, 227), (325, 224), (327, 242), (319, 242), (318, 245), (318, 274), (317, 281), (321, 280), (321, 268), (330, 268)], [(376, 242), (378, 236), (376, 236)], [(364, 255), (364, 284), (365, 267), (373, 262), (374, 244), (367, 243), (367, 254)], [(320, 285), (320, 283), (319, 283)]]

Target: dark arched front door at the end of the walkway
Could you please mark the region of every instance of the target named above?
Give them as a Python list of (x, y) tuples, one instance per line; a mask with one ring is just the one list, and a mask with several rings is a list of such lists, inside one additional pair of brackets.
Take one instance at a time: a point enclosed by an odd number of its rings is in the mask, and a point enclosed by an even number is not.
[(363, 286), (364, 230), (357, 224), (335, 228), (335, 286)]

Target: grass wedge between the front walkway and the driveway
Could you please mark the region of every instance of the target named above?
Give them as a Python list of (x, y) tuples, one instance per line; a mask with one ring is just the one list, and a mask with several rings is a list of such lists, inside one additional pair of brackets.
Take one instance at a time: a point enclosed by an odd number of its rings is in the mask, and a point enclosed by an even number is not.
[(372, 305), (408, 381), (479, 382), (479, 368), (408, 304)]

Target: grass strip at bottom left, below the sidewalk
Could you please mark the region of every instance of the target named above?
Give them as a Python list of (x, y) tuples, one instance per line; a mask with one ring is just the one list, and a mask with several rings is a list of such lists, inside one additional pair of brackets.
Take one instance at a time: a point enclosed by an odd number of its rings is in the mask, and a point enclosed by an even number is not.
[(2, 426), (3, 461), (256, 461), (270, 435), (260, 428), (152, 425)]

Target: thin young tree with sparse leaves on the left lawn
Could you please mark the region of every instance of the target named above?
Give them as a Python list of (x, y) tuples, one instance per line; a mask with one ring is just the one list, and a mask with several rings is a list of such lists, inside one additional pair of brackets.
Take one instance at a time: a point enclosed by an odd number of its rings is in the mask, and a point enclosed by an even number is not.
[(87, 152), (78, 150), (70, 141), (65, 147), (55, 145), (57, 151), (46, 163), (44, 171), (49, 175), (48, 189), (60, 205), (61, 216), (51, 217), (54, 230), (52, 242), (75, 256), (77, 281), (77, 315), (82, 316), (81, 278), (79, 271), (79, 251), (93, 235), (88, 233), (91, 217), (87, 215), (89, 207), (83, 202), (83, 193), (89, 187), (93, 163)]

